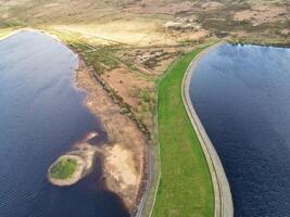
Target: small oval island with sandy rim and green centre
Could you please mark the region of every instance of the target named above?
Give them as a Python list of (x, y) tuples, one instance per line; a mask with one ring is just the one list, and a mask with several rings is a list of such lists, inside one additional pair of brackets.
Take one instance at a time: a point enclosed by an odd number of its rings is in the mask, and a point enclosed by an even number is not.
[(84, 159), (76, 155), (59, 157), (48, 170), (48, 179), (55, 186), (72, 186), (83, 178)]

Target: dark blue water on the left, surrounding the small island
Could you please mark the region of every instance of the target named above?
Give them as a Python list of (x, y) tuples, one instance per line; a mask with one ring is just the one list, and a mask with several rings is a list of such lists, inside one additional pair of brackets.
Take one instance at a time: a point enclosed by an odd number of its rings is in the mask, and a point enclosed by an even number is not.
[(99, 186), (101, 159), (76, 186), (47, 181), (48, 167), (73, 143), (103, 132), (73, 85), (76, 67), (75, 54), (46, 35), (0, 41), (0, 217), (128, 216)]

